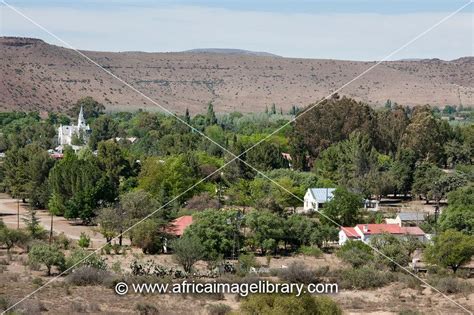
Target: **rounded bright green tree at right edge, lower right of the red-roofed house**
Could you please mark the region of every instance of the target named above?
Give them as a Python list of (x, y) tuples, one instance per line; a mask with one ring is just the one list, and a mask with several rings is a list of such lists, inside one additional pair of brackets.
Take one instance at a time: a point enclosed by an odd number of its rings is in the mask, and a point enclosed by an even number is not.
[(454, 273), (474, 255), (474, 236), (447, 230), (434, 238), (425, 250), (426, 261), (451, 268)]

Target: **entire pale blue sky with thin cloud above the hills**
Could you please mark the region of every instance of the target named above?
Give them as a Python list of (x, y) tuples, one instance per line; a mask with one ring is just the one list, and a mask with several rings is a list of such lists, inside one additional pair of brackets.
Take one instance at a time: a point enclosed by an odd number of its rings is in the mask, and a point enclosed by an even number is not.
[[(0, 0), (0, 34), (64, 46)], [(469, 0), (5, 0), (71, 46), (169, 52), (239, 48), (380, 60)], [(471, 2), (389, 59), (474, 54)]]

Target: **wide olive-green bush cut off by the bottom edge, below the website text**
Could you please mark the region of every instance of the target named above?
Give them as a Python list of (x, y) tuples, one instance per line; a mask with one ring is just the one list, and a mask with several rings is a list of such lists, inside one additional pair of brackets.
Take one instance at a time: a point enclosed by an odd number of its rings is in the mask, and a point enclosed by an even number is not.
[(329, 297), (255, 294), (246, 298), (240, 307), (242, 314), (259, 315), (340, 315), (341, 308)]

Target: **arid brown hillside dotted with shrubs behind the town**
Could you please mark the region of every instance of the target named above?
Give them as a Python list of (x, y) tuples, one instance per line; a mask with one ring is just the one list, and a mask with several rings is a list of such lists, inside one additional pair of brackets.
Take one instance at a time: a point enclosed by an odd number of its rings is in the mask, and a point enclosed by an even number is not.
[[(335, 91), (374, 62), (291, 59), (207, 52), (84, 54), (175, 112), (288, 110)], [(83, 96), (109, 110), (153, 109), (136, 92), (77, 52), (38, 39), (0, 38), (0, 110), (61, 111)], [(339, 94), (374, 106), (472, 106), (474, 57), (385, 62)]]

